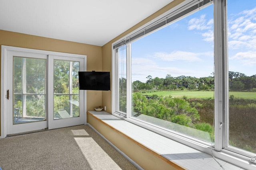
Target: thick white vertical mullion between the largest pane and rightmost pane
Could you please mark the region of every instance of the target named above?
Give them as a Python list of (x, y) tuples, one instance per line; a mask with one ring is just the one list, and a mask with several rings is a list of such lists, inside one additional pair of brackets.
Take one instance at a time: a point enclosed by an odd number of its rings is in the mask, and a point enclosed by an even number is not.
[[(226, 38), (226, 0), (214, 1), (214, 111), (215, 150), (225, 147), (228, 120), (228, 60)], [(226, 135), (228, 136), (228, 135)]]

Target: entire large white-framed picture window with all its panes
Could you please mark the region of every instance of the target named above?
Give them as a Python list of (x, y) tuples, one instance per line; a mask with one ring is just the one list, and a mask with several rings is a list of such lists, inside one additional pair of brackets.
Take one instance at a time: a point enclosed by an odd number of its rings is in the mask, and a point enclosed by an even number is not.
[(113, 112), (253, 162), (255, 15), (252, 0), (191, 1), (114, 43)]

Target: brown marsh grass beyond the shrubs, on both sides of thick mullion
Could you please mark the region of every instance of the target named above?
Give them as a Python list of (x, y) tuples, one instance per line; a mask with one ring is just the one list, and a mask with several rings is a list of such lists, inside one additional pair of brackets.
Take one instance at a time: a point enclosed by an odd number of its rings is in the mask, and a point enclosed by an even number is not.
[[(200, 123), (214, 123), (213, 99), (188, 99), (198, 110)], [(229, 144), (256, 153), (256, 100), (235, 98), (229, 101)]]

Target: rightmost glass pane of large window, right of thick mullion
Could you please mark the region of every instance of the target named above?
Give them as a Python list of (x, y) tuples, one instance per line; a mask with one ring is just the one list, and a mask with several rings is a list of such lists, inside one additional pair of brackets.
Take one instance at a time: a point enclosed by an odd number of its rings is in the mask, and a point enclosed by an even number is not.
[(227, 6), (229, 145), (256, 153), (256, 1)]

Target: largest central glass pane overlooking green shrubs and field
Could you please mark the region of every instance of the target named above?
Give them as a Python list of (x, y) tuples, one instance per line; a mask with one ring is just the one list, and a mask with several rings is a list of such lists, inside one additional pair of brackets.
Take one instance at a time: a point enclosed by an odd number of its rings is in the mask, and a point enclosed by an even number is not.
[(213, 5), (132, 43), (132, 116), (214, 143)]

